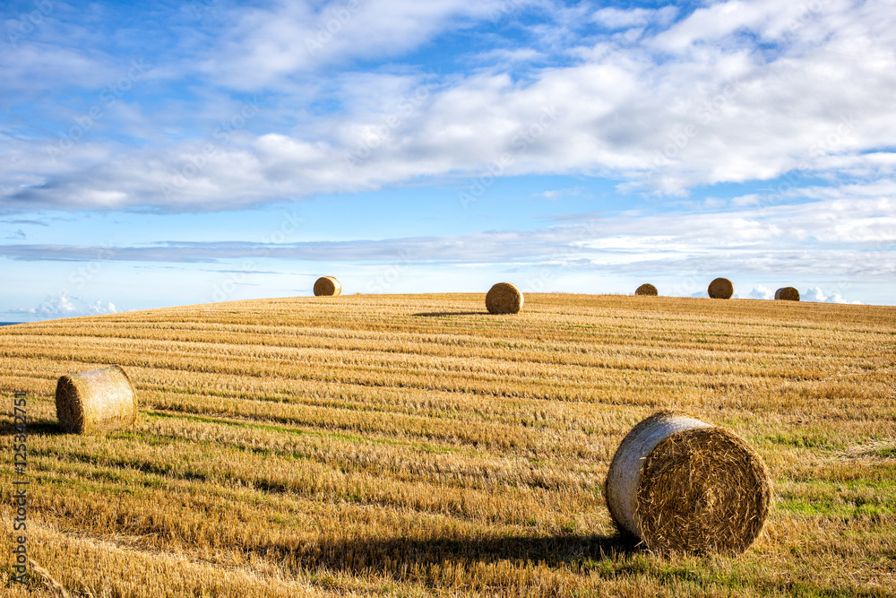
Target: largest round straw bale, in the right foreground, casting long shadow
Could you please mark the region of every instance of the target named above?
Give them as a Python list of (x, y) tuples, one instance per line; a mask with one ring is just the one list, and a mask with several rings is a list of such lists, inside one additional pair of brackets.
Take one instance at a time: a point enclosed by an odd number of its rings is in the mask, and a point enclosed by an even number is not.
[(604, 492), (619, 530), (650, 550), (740, 554), (762, 532), (771, 478), (727, 429), (659, 412), (616, 449)]

